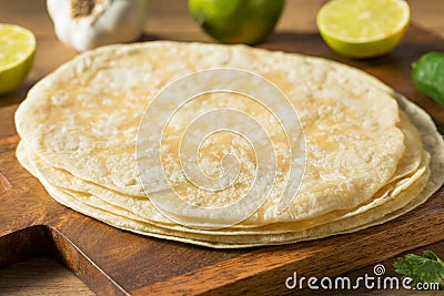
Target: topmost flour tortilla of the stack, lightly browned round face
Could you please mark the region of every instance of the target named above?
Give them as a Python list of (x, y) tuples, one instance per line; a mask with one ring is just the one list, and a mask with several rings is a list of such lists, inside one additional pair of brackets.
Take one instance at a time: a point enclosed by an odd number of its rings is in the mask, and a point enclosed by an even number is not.
[[(143, 197), (134, 140), (144, 108), (169, 81), (213, 67), (250, 70), (275, 83), (296, 108), (306, 137), (307, 162), (297, 198), (289, 211), (276, 215), (283, 174), (270, 198), (246, 223), (301, 221), (356, 207), (395, 173), (405, 150), (404, 135), (397, 127), (397, 104), (386, 86), (324, 59), (243, 45), (162, 41), (81, 54), (30, 91), (16, 114), (18, 132), (27, 146), (53, 167)], [(226, 101), (230, 106), (239, 103)], [(173, 164), (168, 163), (167, 171)], [(205, 203), (214, 200), (213, 195), (198, 191), (182, 197)], [(231, 203), (238, 196), (222, 192), (216, 201)]]

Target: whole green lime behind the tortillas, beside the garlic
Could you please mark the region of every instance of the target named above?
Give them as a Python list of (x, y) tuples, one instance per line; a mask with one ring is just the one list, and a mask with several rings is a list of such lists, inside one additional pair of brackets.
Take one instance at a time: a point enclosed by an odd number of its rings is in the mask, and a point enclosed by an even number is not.
[(198, 24), (223, 43), (256, 44), (273, 31), (284, 0), (189, 0)]

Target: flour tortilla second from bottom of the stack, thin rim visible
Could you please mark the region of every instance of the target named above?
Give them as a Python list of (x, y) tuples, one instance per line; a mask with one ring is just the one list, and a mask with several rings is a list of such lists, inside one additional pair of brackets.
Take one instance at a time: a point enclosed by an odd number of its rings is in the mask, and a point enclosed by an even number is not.
[[(24, 153), (24, 154), (23, 154)], [(167, 228), (167, 229), (172, 229), (172, 231), (179, 231), (183, 233), (195, 233), (195, 234), (205, 234), (205, 235), (228, 235), (228, 236), (239, 236), (239, 235), (269, 235), (269, 234), (286, 234), (286, 233), (302, 233), (303, 231), (307, 231), (309, 228), (313, 228), (319, 225), (336, 225), (335, 221), (339, 220), (345, 220), (355, 215), (362, 215), (362, 213), (375, 208), (373, 212), (376, 212), (376, 214), (372, 214), (372, 217), (375, 215), (379, 215), (379, 217), (383, 217), (387, 211), (393, 212), (397, 208), (403, 207), (405, 204), (407, 204), (412, 197), (416, 196), (416, 194), (413, 194), (412, 188), (415, 188), (415, 192), (420, 192), (424, 185), (425, 182), (428, 178), (428, 170), (427, 170), (427, 164), (428, 164), (428, 156), (427, 154), (424, 155), (423, 157), (423, 163), (421, 165), (421, 169), (417, 170), (412, 176), (405, 178), (404, 182), (402, 183), (402, 186), (395, 186), (396, 190), (392, 191), (390, 194), (377, 197), (376, 202), (373, 202), (371, 204), (365, 204), (363, 206), (357, 207), (356, 210), (353, 210), (352, 212), (347, 213), (332, 213), (330, 215), (326, 215), (326, 217), (321, 217), (321, 218), (315, 218), (313, 221), (302, 221), (302, 222), (294, 222), (294, 223), (282, 223), (282, 224), (272, 224), (268, 225), (264, 227), (254, 227), (254, 228), (235, 228), (235, 227), (230, 227), (230, 228), (223, 228), (223, 229), (218, 229), (218, 231), (206, 231), (206, 229), (196, 229), (196, 228), (186, 228), (181, 225), (171, 225), (170, 224), (159, 224), (155, 221), (152, 220), (145, 220), (143, 216), (134, 215), (131, 210), (125, 210), (122, 207), (114, 206), (112, 204), (109, 204), (104, 201), (102, 201), (100, 197), (90, 194), (90, 193), (84, 193), (84, 192), (78, 192), (73, 191), (70, 188), (60, 188), (58, 186), (54, 186), (53, 184), (50, 184), (47, 182), (47, 178), (42, 177), (42, 175), (37, 171), (38, 169), (33, 164), (28, 164), (29, 162), (29, 154), (26, 154), (26, 150), (22, 145), (20, 144), (18, 149), (18, 155), (20, 155), (20, 159), (24, 159), (26, 161), (26, 166), (27, 167), (32, 167), (31, 171), (34, 175), (39, 176), (40, 180), (44, 180), (46, 186), (50, 187), (52, 192), (63, 192), (64, 195), (70, 196), (71, 200), (75, 200), (77, 202), (84, 204), (90, 207), (95, 207), (95, 208), (101, 208), (103, 212), (109, 212), (113, 213), (118, 216), (122, 216), (127, 220), (132, 220), (137, 223), (145, 223), (149, 224), (150, 226), (159, 226), (161, 228)], [(408, 186), (405, 186), (408, 184)], [(406, 192), (405, 192), (406, 191)], [(411, 194), (411, 196), (408, 196)], [(61, 200), (65, 200), (64, 197), (59, 197)], [(383, 202), (382, 202), (382, 201)], [(384, 207), (381, 205), (385, 204)], [(65, 202), (64, 202), (65, 203)], [(373, 204), (373, 206), (371, 206)], [(384, 211), (382, 211), (384, 208)], [(82, 212), (81, 210), (79, 210)], [(372, 211), (371, 211), (372, 212)], [(364, 220), (363, 216), (370, 216), (367, 214), (362, 215), (356, 217), (355, 224), (359, 222), (364, 223), (367, 220)], [(343, 222), (339, 222), (337, 224), (341, 224)], [(325, 228), (327, 226), (323, 226), (322, 228)], [(333, 226), (335, 227), (335, 226)], [(317, 227), (320, 228), (320, 227)], [(334, 232), (333, 232), (334, 233)], [(231, 239), (236, 239), (236, 238), (231, 238)]]

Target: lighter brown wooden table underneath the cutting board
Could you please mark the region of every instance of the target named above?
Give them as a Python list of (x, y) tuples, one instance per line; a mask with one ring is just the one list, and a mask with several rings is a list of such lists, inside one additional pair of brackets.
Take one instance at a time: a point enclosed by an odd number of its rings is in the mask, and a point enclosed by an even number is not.
[[(278, 25), (280, 32), (314, 32), (315, 14), (326, 0), (287, 0)], [(190, 18), (185, 0), (148, 1), (145, 33), (150, 38), (208, 41)], [(168, 4), (167, 4), (168, 3)], [(412, 19), (416, 24), (444, 38), (443, 0), (411, 0)], [(1, 98), (0, 108), (13, 105), (24, 99), (27, 91), (43, 75), (70, 60), (75, 51), (61, 44), (46, 12), (43, 0), (0, 0), (0, 22), (11, 22), (31, 29), (37, 35), (38, 49), (34, 67), (26, 82), (14, 93)], [(431, 246), (444, 254), (444, 242)], [(422, 247), (422, 249), (425, 249)], [(385, 262), (385, 266), (393, 259)], [(362, 275), (363, 268), (350, 275)], [(52, 258), (33, 258), (0, 269), (0, 294), (10, 295), (91, 295), (80, 279)]]

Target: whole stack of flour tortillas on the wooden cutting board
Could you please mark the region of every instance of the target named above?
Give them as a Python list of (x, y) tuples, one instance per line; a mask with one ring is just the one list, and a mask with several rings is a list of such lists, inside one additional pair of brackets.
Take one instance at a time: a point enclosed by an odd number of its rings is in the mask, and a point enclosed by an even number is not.
[[(152, 100), (169, 83), (213, 68), (251, 71), (278, 86), (299, 115), (304, 157), (290, 157), (280, 119), (270, 110), (245, 95), (215, 92), (178, 106), (160, 146), (152, 147), (161, 150), (162, 167), (138, 167), (139, 126)], [(236, 180), (218, 191), (188, 180), (178, 156), (182, 135), (196, 114), (221, 109), (240, 110), (264, 126), (274, 157), (263, 163), (275, 170), (275, 178), (254, 213), (238, 208), (233, 215), (245, 214), (244, 220), (212, 227), (221, 221), (206, 210), (245, 196), (260, 165), (251, 141), (221, 131), (201, 143), (194, 161), (218, 178), (224, 155), (231, 154), (239, 164)], [(211, 247), (287, 244), (355, 232), (415, 208), (444, 182), (443, 137), (422, 109), (344, 64), (244, 45), (159, 41), (85, 52), (32, 88), (16, 123), (20, 163), (56, 201), (122, 229)], [(284, 191), (292, 182), (292, 161), (303, 171), (302, 183), (291, 204), (278, 211), (282, 194), (295, 194)], [(163, 173), (184, 202), (204, 207), (201, 216), (179, 213), (208, 227), (179, 223), (159, 211), (141, 171)], [(155, 186), (149, 187), (161, 195)]]

